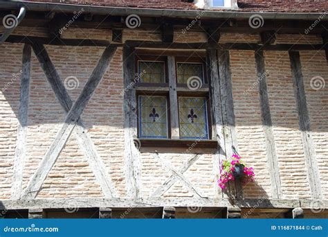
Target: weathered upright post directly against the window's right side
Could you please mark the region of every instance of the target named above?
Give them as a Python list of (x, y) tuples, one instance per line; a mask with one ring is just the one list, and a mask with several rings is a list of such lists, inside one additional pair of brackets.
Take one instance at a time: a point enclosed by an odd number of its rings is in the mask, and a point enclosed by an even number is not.
[[(217, 64), (217, 53), (215, 49), (206, 51), (207, 70), (210, 78), (210, 101), (211, 103), (211, 118), (212, 118), (212, 139), (217, 140), (217, 152), (213, 155), (213, 177), (218, 177), (220, 170), (220, 162), (226, 159), (226, 143), (224, 140), (224, 123), (221, 109), (221, 96), (219, 84), (219, 67)], [(226, 194), (221, 191), (219, 186), (216, 186), (218, 195), (226, 198)]]

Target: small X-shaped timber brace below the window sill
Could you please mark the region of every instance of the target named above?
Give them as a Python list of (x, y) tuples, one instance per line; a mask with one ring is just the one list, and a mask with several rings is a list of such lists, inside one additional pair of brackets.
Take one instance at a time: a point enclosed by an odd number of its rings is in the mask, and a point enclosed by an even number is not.
[(163, 157), (160, 157), (158, 153), (155, 153), (154, 157), (161, 161), (164, 168), (166, 168), (167, 171), (170, 171), (172, 175), (162, 184), (162, 186), (158, 187), (156, 191), (152, 194), (152, 198), (160, 197), (163, 195), (178, 179), (180, 179), (183, 183), (185, 183), (185, 186), (192, 191), (194, 194), (196, 194), (199, 198), (204, 198), (199, 194), (199, 191), (197, 191), (194, 186), (183, 176), (183, 173), (188, 170), (192, 164), (194, 164), (197, 159), (199, 159), (200, 155), (194, 155), (190, 159), (188, 159), (187, 162), (180, 168), (180, 170), (175, 170), (166, 159), (163, 159)]

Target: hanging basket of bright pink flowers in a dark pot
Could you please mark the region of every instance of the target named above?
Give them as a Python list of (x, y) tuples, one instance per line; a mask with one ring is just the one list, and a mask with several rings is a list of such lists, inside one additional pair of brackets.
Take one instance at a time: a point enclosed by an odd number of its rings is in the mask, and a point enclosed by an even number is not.
[(234, 154), (231, 160), (224, 160), (220, 166), (220, 177), (218, 184), (221, 189), (226, 189), (228, 182), (242, 179), (242, 182), (254, 182), (254, 171), (252, 167), (248, 167), (244, 164), (239, 155)]

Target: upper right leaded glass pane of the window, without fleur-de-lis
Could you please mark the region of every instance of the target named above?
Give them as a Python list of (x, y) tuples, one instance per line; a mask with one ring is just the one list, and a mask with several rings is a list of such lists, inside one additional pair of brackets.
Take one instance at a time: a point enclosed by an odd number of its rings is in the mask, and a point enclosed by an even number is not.
[(203, 82), (203, 64), (178, 63), (176, 66), (178, 83), (186, 84), (188, 79), (194, 76), (201, 78)]

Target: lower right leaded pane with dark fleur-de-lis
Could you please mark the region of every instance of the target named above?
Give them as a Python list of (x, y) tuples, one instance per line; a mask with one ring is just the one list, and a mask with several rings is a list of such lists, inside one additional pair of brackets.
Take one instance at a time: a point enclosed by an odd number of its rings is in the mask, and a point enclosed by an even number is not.
[(179, 97), (181, 139), (208, 139), (206, 98)]

